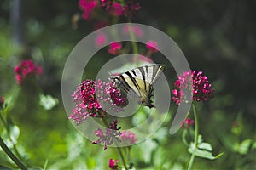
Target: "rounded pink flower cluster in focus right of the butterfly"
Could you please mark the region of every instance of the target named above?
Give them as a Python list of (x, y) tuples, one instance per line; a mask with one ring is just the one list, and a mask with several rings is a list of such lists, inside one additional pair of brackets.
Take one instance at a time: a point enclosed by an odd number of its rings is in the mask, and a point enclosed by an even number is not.
[(193, 100), (195, 101), (205, 102), (214, 96), (212, 84), (208, 82), (206, 76), (202, 75), (202, 71), (198, 71), (197, 73), (195, 71), (183, 72), (183, 75), (177, 78), (174, 86), (177, 87), (177, 89), (172, 90), (172, 94), (174, 94), (172, 99), (177, 105), (188, 100), (188, 97), (185, 96), (181, 88), (186, 89), (189, 86), (192, 87), (190, 90), (193, 92)]

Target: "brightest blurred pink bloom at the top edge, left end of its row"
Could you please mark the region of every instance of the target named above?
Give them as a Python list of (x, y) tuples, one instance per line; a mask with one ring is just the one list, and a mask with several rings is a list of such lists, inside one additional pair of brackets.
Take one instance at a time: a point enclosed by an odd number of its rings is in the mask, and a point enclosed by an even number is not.
[(97, 6), (98, 6), (97, 0), (79, 0), (79, 7), (84, 12), (82, 15), (84, 20), (90, 19), (91, 13), (95, 8), (97, 8)]

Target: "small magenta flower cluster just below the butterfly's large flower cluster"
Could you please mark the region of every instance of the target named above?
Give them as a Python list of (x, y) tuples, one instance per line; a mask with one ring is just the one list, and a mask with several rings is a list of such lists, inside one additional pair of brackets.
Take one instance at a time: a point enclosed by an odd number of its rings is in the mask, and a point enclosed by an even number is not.
[(108, 145), (111, 145), (113, 143), (116, 144), (120, 143), (121, 140), (119, 139), (119, 136), (121, 133), (119, 132), (120, 127), (117, 127), (117, 120), (114, 120), (113, 123), (110, 123), (108, 127), (106, 127), (105, 132), (101, 128), (98, 128), (94, 133), (98, 139), (93, 144), (104, 144), (104, 150), (107, 149)]

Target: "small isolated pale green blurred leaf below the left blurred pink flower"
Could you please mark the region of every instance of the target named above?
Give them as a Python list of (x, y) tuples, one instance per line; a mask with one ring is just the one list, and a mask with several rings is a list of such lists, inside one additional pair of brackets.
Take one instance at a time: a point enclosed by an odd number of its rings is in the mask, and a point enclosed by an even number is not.
[(49, 111), (58, 105), (59, 100), (52, 97), (51, 95), (40, 94), (40, 105), (43, 106), (44, 110)]

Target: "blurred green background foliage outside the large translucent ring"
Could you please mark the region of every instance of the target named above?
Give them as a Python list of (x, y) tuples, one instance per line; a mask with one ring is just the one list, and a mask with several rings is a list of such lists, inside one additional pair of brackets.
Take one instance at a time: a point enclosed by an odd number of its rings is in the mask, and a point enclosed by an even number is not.
[[(22, 10), (21, 22), (15, 20), (17, 2)], [(256, 2), (140, 3), (142, 9), (133, 22), (166, 32), (182, 49), (190, 68), (204, 71), (215, 88), (215, 98), (199, 105), (200, 133), (212, 144), (213, 154), (224, 155), (215, 161), (197, 158), (194, 167), (255, 169)], [(67, 120), (61, 103), (61, 74), (67, 56), (82, 38), (94, 31), (94, 20), (79, 20), (78, 28), (73, 27), (73, 15), (77, 13), (78, 1), (0, 2), (0, 97), (5, 97), (11, 121), (20, 129), (17, 149), (30, 167), (44, 167), (48, 161), (49, 169), (106, 169), (108, 159), (119, 159), (114, 149), (103, 150), (101, 145), (91, 144), (79, 134)], [(26, 50), (15, 48), (15, 43)], [(94, 76), (93, 67), (100, 68), (110, 59), (109, 54), (101, 55), (91, 61), (87, 77)], [(44, 75), (37, 82), (22, 88), (16, 84), (14, 73), (21, 59), (33, 59), (44, 67)], [(177, 77), (171, 76), (174, 82)], [(50, 94), (59, 104), (45, 111), (39, 105), (39, 94)], [(172, 107), (175, 110), (176, 106)], [(182, 143), (182, 130), (171, 136), (170, 118), (152, 138), (133, 146), (131, 161), (138, 169), (186, 167), (189, 152)], [(2, 131), (1, 123), (0, 127)], [(0, 165), (15, 168), (3, 150)]]

